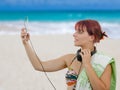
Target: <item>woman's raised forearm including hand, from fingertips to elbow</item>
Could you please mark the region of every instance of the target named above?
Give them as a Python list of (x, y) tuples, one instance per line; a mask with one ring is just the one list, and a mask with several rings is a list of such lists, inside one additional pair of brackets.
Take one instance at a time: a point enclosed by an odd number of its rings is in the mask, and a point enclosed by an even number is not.
[(22, 30), (21, 30), (21, 39), (22, 39), (22, 43), (25, 47), (26, 53), (28, 55), (28, 58), (29, 58), (31, 64), (33, 65), (34, 69), (39, 70), (39, 71), (43, 71), (43, 68), (42, 68), (43, 62), (41, 62), (39, 60), (35, 51), (33, 50), (33, 48), (31, 48), (31, 46), (29, 44), (30, 35), (29, 35), (29, 33), (27, 33), (25, 28), (22, 28)]

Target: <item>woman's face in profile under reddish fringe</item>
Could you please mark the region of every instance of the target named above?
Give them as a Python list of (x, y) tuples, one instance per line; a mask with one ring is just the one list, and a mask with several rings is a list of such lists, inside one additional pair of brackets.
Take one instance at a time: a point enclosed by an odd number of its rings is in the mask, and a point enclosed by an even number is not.
[(78, 27), (76, 27), (73, 37), (74, 37), (74, 45), (81, 47), (88, 45), (89, 42), (92, 40), (85, 26), (83, 28), (81, 27), (80, 30), (78, 30)]

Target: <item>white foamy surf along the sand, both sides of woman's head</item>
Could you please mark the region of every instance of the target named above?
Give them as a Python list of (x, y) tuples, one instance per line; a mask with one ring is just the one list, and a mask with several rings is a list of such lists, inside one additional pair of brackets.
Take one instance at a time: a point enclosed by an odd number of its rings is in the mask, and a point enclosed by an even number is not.
[[(100, 22), (103, 31), (110, 38), (120, 38), (120, 23)], [(66, 34), (74, 33), (75, 22), (38, 22), (32, 21), (28, 23), (28, 31), (31, 34)], [(0, 35), (3, 34), (19, 34), (21, 28), (24, 27), (24, 21), (0, 22)]]

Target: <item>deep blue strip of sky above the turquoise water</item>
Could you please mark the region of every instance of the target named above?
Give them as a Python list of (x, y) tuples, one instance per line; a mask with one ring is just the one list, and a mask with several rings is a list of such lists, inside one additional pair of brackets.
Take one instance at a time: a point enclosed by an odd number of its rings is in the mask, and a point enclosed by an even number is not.
[(0, 10), (120, 10), (120, 0), (0, 0)]

